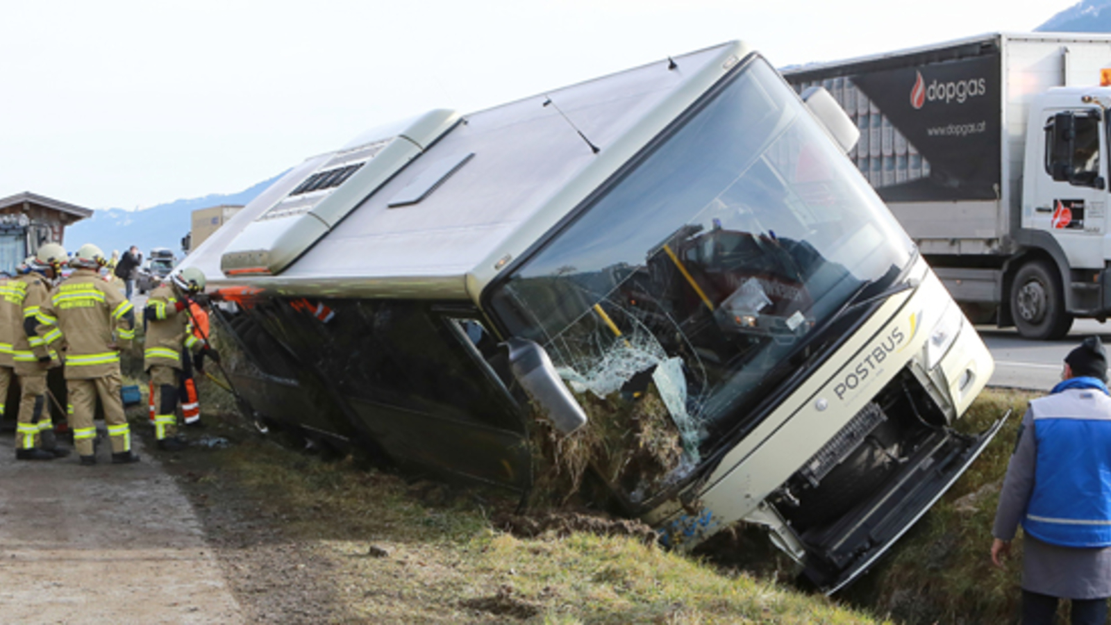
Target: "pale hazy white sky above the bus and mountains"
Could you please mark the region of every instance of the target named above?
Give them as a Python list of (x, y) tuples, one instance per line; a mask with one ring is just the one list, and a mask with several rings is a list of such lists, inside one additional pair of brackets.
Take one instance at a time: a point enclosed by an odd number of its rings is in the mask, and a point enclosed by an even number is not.
[(0, 0), (0, 197), (240, 191), (362, 130), (744, 39), (774, 66), (989, 31), (1071, 0)]

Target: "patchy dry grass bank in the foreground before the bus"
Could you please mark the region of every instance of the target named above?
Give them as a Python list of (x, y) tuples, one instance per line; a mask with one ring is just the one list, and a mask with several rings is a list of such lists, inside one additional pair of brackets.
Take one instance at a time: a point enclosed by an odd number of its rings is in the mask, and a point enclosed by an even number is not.
[(863, 613), (629, 537), (517, 538), (512, 502), (324, 462), (268, 440), (210, 454), (326, 558), (346, 618), (368, 623), (874, 623)]

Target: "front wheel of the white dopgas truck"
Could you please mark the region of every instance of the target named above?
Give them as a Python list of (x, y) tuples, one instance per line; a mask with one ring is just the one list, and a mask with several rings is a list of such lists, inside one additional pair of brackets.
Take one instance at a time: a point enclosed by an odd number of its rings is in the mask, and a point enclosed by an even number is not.
[(1023, 265), (1011, 285), (1011, 316), (1025, 338), (1059, 339), (1069, 334), (1072, 315), (1054, 267), (1044, 260)]

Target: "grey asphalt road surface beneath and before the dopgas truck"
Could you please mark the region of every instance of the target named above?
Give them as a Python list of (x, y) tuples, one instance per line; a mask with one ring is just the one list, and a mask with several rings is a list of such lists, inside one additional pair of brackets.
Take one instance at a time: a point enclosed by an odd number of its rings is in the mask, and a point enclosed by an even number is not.
[(1085, 336), (1098, 335), (1111, 348), (1111, 324), (1092, 319), (1078, 319), (1061, 340), (1027, 340), (1013, 328), (977, 326), (977, 330), (995, 358), (990, 386), (1049, 390), (1061, 380), (1064, 356)]

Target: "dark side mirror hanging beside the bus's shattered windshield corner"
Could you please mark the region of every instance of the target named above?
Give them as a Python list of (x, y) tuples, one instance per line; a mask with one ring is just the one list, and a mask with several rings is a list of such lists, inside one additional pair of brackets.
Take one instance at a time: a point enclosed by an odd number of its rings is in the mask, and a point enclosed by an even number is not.
[(543, 347), (517, 337), (504, 345), (509, 346), (509, 367), (513, 377), (556, 429), (571, 434), (587, 424), (587, 413), (559, 377)]

